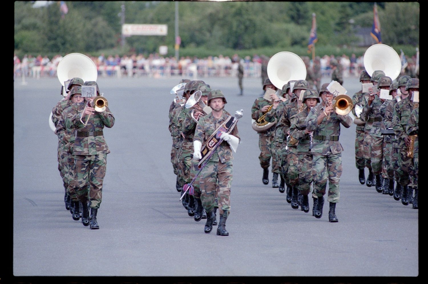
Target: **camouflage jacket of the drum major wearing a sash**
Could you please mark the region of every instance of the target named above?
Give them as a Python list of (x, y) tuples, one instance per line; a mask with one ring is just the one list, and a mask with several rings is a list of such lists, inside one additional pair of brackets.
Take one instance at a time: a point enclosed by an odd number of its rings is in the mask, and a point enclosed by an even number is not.
[[(216, 131), (217, 128), (226, 121), (228, 117), (229, 114), (223, 110), (223, 115), (218, 120), (213, 116), (212, 113), (199, 118), (195, 130), (194, 140), (201, 142), (203, 145), (214, 133), (214, 131)], [(236, 136), (241, 142), (241, 138), (239, 137), (238, 133), (238, 125), (235, 126), (230, 134)], [(221, 161), (222, 163), (226, 163), (231, 158), (233, 158), (232, 149), (230, 148), (229, 143), (223, 141), (217, 147), (217, 149), (215, 149), (214, 153), (209, 158), (209, 161)]]

